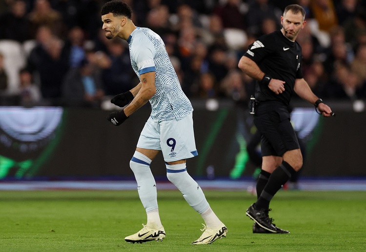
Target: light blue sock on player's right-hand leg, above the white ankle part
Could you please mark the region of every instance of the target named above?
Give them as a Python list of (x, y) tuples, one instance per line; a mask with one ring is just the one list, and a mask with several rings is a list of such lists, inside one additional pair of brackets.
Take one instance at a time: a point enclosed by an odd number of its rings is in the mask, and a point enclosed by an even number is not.
[(201, 214), (210, 207), (201, 187), (187, 173), (185, 163), (166, 164), (166, 176), (181, 191), (188, 204), (198, 213)]

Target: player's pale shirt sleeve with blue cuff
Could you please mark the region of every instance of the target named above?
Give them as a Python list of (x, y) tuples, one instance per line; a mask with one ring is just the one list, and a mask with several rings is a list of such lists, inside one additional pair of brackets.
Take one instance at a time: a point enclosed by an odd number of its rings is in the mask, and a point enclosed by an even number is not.
[(153, 43), (143, 34), (137, 35), (131, 46), (131, 57), (138, 67), (139, 75), (155, 72), (154, 55)]

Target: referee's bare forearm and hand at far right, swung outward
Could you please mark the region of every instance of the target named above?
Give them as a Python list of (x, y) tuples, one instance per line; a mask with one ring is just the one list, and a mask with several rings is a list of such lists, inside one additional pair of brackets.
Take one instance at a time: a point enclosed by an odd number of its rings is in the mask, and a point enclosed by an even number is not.
[[(304, 78), (296, 79), (294, 91), (296, 94), (303, 98), (304, 100), (310, 102), (311, 104), (315, 104), (315, 102), (319, 99), (310, 89), (309, 85), (305, 81)], [(332, 114), (332, 110), (328, 105), (321, 102), (318, 104), (318, 110), (322, 113), (323, 116), (330, 116)]]

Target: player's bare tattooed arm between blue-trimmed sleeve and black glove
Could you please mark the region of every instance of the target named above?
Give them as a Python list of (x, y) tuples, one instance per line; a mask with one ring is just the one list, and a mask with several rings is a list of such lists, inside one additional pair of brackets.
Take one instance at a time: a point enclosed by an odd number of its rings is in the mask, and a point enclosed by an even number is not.
[(141, 82), (135, 88), (131, 89), (132, 94), (137, 92), (135, 97), (131, 103), (123, 109), (126, 116), (130, 116), (136, 110), (141, 108), (156, 93), (155, 72), (142, 74), (140, 79)]

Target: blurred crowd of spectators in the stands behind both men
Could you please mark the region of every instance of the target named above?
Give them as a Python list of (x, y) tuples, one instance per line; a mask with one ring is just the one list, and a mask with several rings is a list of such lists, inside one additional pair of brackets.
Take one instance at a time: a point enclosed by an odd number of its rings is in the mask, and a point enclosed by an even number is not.
[[(106, 0), (0, 0), (0, 105), (99, 108), (138, 84), (128, 44), (108, 40)], [(286, 5), (306, 10), (297, 41), (322, 98), (366, 99), (365, 0), (125, 0), (158, 33), (189, 98), (247, 105), (254, 82), (237, 65), (249, 44), (281, 29)]]

